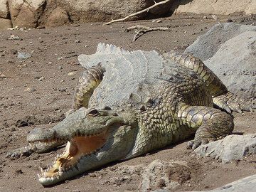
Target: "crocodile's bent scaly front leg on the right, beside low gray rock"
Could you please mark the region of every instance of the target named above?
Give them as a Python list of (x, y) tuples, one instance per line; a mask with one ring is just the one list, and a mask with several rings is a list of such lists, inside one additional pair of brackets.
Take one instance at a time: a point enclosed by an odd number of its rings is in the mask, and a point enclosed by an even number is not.
[(196, 132), (195, 138), (188, 142), (192, 149), (225, 137), (234, 128), (232, 115), (212, 107), (183, 105), (178, 118)]

